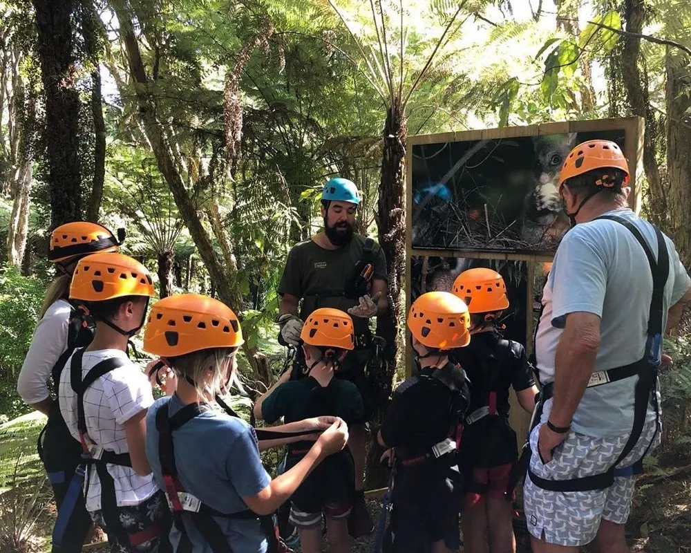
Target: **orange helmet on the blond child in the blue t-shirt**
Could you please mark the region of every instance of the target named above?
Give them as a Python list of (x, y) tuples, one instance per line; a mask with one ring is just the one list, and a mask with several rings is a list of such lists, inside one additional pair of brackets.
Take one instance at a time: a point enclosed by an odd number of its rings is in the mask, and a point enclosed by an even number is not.
[(237, 348), (245, 343), (231, 308), (201, 294), (178, 294), (153, 304), (144, 330), (144, 351), (177, 357), (199, 350)]

